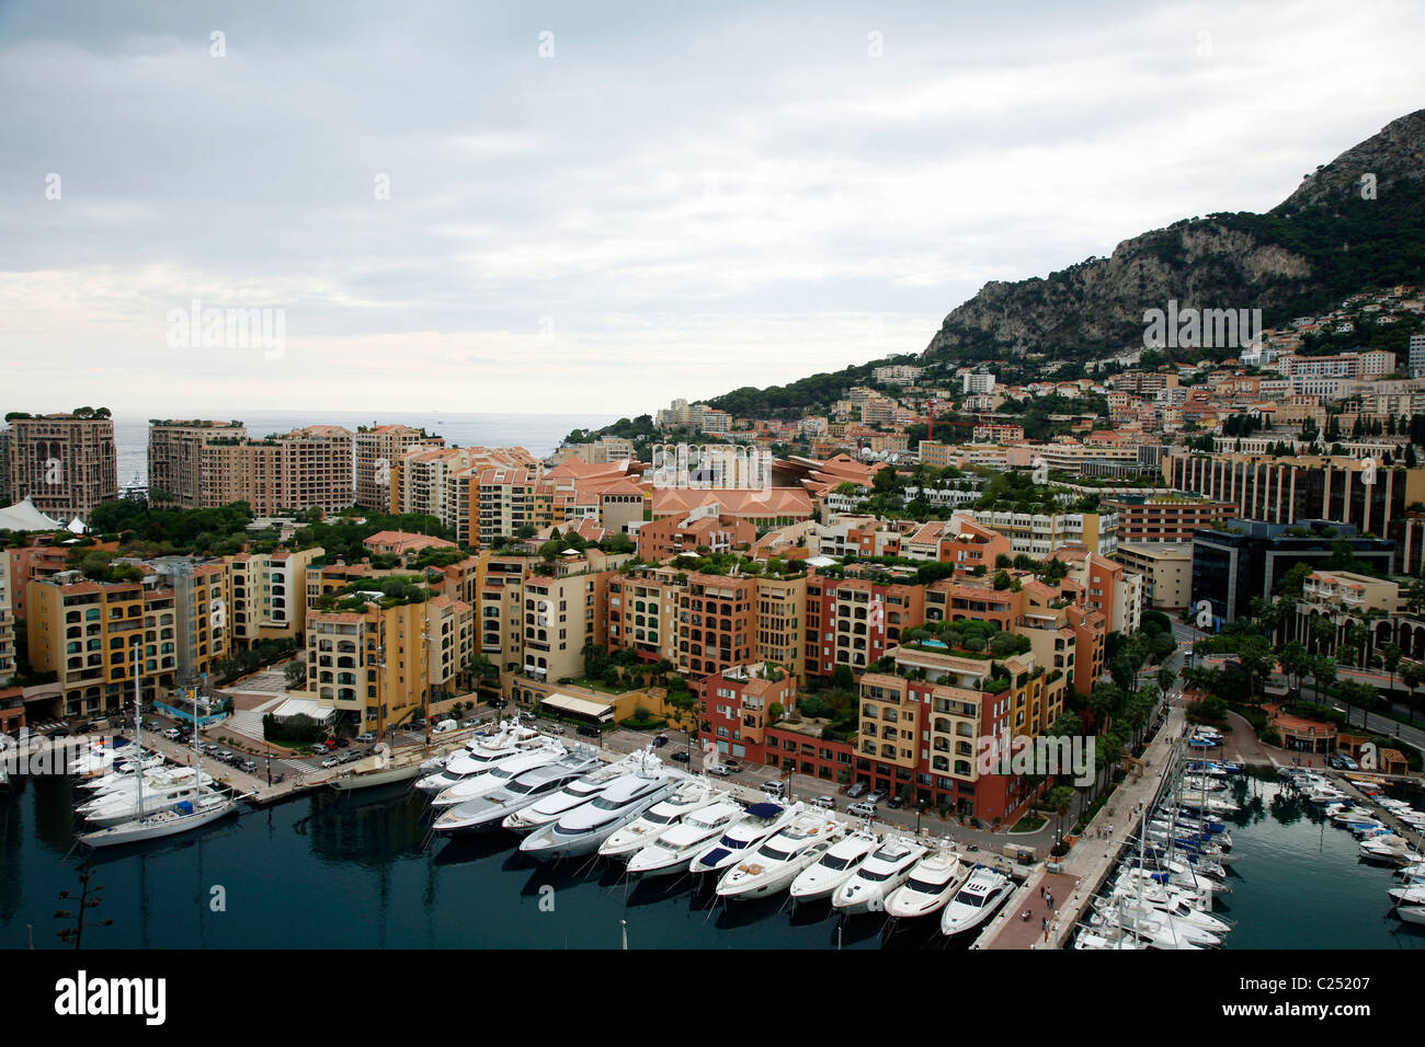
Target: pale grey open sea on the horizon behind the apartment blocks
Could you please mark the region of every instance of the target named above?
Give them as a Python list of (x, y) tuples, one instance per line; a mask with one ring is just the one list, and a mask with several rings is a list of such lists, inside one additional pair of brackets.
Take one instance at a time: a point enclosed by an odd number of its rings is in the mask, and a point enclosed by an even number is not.
[[(118, 462), (118, 483), (148, 480), (148, 420), (172, 417), (171, 410), (154, 410), (142, 417), (135, 415), (114, 416), (114, 453)], [(207, 417), (215, 417), (208, 412)], [(462, 415), (453, 412), (403, 412), (373, 417), (369, 412), (352, 410), (305, 410), (272, 412), (242, 410), (225, 412), (222, 422), (238, 420), (248, 429), (248, 436), (262, 437), (272, 433), (288, 433), (302, 426), (342, 426), (356, 430), (358, 426), (406, 424), (443, 436), (447, 444), (462, 447), (524, 447), (533, 454), (551, 454), (574, 429), (600, 429), (618, 420), (617, 415)]]

